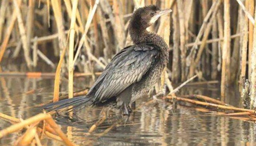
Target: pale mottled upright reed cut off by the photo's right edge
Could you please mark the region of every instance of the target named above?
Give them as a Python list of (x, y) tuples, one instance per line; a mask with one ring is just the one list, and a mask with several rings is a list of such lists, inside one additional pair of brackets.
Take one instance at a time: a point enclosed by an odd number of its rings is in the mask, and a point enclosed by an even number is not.
[[(255, 14), (254, 14), (255, 18), (256, 18), (256, 9), (255, 9)], [(250, 89), (250, 99), (251, 99), (251, 108), (256, 108), (256, 27), (254, 27), (253, 30), (253, 48), (251, 51), (251, 56), (249, 56), (251, 58), (251, 89)]]

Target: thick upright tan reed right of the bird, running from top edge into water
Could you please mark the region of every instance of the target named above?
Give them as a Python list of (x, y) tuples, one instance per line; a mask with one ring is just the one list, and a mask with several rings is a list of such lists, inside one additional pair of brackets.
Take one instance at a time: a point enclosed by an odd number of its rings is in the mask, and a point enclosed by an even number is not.
[(230, 1), (224, 0), (224, 44), (222, 48), (222, 82), (221, 97), (225, 97), (225, 86), (229, 83), (230, 77)]

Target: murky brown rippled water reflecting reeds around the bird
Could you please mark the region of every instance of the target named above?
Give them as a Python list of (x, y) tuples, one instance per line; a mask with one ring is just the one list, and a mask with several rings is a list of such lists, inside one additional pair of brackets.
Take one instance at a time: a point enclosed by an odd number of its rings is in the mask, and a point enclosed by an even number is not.
[[(75, 80), (75, 89), (91, 86), (89, 79)], [(24, 77), (0, 77), (0, 112), (4, 114), (28, 117), (38, 114), (32, 106), (46, 103), (53, 97), (54, 79), (28, 79)], [(66, 81), (62, 82), (64, 85)], [(66, 86), (62, 86), (62, 93), (66, 93)], [(36, 90), (34, 93), (28, 91)], [(187, 87), (181, 94), (198, 93), (219, 97), (216, 86)], [(26, 94), (27, 93), (27, 94)], [(231, 90), (226, 102), (238, 105), (238, 96)], [(129, 119), (109, 112), (109, 118), (92, 134), (88, 129), (99, 119), (101, 109), (85, 109), (73, 118), (57, 116), (58, 124), (68, 137), (78, 145), (84, 145), (88, 138), (94, 140), (94, 145), (256, 145), (256, 126), (254, 123), (231, 119), (229, 117), (214, 116), (211, 113), (199, 112), (192, 104), (183, 103), (176, 109), (172, 104), (153, 103), (140, 105), (149, 101), (145, 97), (136, 103), (138, 111)], [(107, 134), (103, 132), (112, 124), (118, 125)], [(0, 129), (11, 124), (0, 119)], [(99, 134), (102, 134), (99, 136)], [(11, 134), (0, 140), (0, 145), (11, 145), (18, 138), (18, 134)], [(43, 140), (45, 145), (63, 145), (58, 141)]]

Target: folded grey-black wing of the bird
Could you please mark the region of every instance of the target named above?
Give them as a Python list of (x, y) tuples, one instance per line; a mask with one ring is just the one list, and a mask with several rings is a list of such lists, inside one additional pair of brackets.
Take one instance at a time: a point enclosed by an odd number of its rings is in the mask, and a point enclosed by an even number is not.
[(138, 82), (155, 62), (158, 53), (153, 45), (132, 45), (122, 49), (90, 90), (97, 90), (94, 101), (104, 102)]

